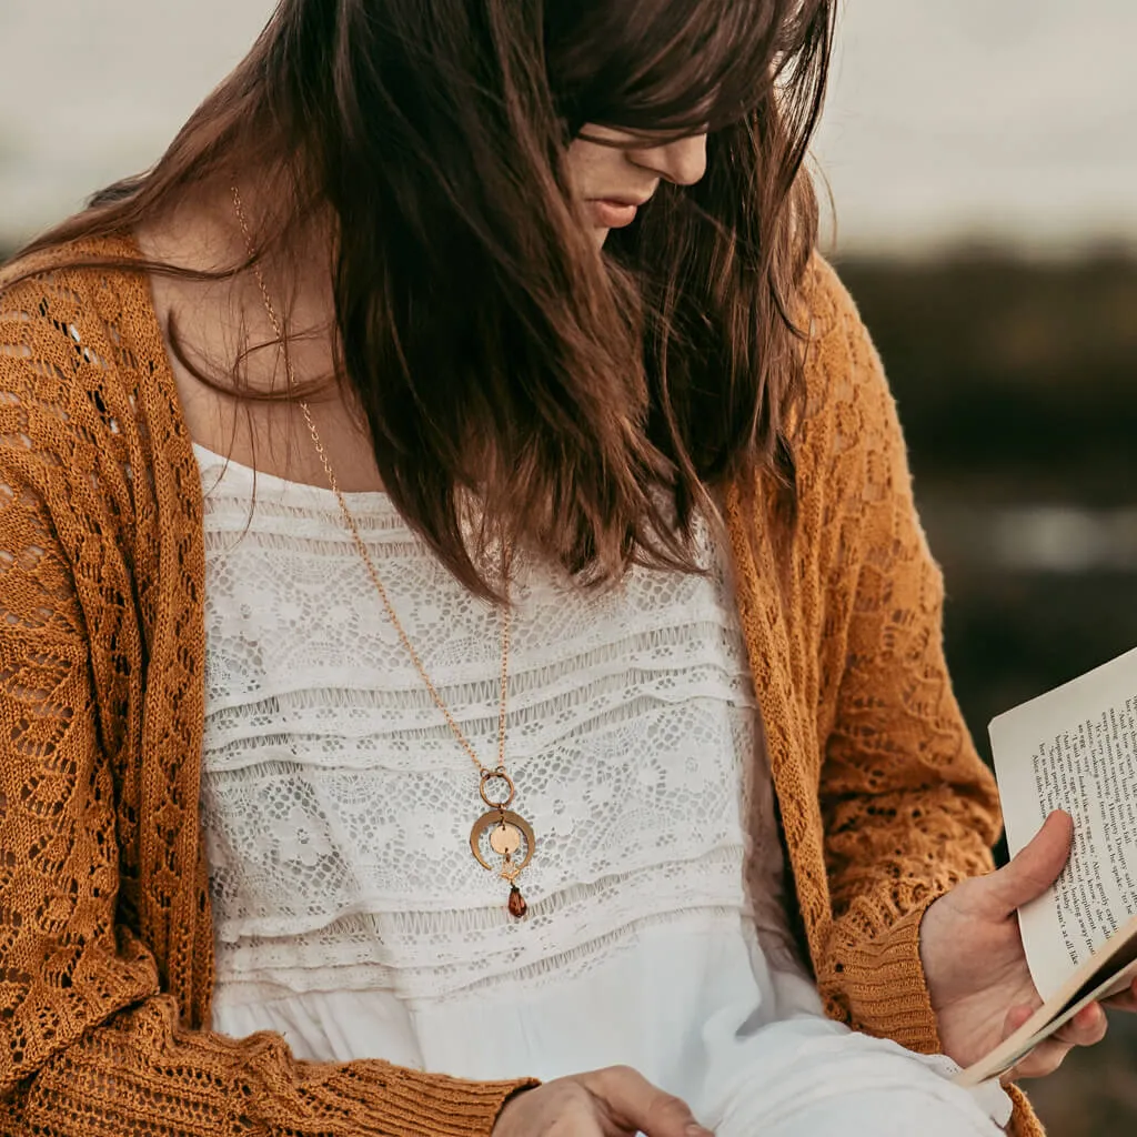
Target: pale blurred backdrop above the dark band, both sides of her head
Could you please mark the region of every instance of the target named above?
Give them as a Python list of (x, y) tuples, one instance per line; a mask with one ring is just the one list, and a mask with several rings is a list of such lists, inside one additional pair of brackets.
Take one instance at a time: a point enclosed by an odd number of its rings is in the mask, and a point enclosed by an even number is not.
[[(0, 0), (0, 244), (152, 161), (271, 0)], [(850, 0), (818, 152), (847, 249), (1137, 246), (1134, 0)]]

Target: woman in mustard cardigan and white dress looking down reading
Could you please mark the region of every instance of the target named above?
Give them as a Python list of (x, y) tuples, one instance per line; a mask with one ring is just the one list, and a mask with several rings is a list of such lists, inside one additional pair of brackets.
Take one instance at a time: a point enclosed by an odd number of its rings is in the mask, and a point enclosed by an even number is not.
[(1007, 1121), (1069, 832), (964, 880), (831, 20), (284, 0), (9, 268), (6, 1131)]

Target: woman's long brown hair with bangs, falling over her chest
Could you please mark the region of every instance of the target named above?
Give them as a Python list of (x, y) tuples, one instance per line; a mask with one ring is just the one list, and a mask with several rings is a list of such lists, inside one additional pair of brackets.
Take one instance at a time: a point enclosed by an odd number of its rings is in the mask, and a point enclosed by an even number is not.
[[(281, 0), (152, 171), (25, 252), (274, 171), (254, 246), (331, 210), (339, 377), (459, 580), (492, 591), (471, 493), (584, 580), (691, 570), (708, 490), (765, 474), (792, 498), (832, 23), (832, 0)], [(709, 132), (703, 181), (661, 186), (603, 257), (564, 163), (590, 123)]]

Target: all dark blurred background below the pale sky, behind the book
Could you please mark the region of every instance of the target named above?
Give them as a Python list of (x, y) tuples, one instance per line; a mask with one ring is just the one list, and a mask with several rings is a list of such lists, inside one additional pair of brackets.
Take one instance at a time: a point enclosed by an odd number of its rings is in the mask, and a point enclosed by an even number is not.
[[(899, 402), (946, 575), (948, 662), (989, 756), (993, 715), (1137, 646), (1137, 532), (1113, 524), (1120, 553), (1071, 548), (1056, 568), (1005, 531), (1037, 506), (1064, 507), (1073, 542), (1095, 518), (1137, 530), (1137, 263), (839, 268)], [(1053, 1137), (1137, 1129), (1137, 1016), (1112, 1020), (1105, 1043), (1028, 1084)]]

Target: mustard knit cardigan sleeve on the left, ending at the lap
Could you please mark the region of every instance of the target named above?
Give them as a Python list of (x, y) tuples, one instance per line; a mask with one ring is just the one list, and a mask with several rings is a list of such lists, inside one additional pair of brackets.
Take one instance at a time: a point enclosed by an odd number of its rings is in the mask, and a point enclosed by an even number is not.
[(121, 812), (132, 774), (113, 724), (128, 677), (97, 680), (92, 645), (141, 659), (122, 613), (146, 600), (117, 583), (130, 550), (108, 540), (113, 512), (74, 505), (114, 498), (98, 474), (114, 439), (92, 426), (105, 407), (85, 418), (61, 396), (96, 356), (48, 308), (33, 287), (0, 305), (0, 1131), (485, 1137), (525, 1082), (302, 1062), (273, 1035), (188, 1029), (124, 921), (122, 829), (136, 819)]

